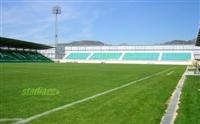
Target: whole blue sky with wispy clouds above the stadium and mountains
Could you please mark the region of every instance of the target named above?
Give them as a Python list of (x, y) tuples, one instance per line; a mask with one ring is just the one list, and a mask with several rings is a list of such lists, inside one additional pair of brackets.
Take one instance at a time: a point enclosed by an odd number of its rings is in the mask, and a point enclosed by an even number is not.
[(197, 35), (199, 0), (1, 0), (1, 36), (54, 43), (53, 6), (59, 5), (59, 42), (154, 44)]

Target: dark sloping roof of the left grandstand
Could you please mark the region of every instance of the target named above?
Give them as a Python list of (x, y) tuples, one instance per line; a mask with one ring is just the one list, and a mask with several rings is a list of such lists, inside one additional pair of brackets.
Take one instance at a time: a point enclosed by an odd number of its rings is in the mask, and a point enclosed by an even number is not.
[(0, 47), (11, 47), (11, 48), (24, 48), (24, 49), (49, 49), (51, 46), (27, 42), (23, 40), (11, 39), (0, 37)]

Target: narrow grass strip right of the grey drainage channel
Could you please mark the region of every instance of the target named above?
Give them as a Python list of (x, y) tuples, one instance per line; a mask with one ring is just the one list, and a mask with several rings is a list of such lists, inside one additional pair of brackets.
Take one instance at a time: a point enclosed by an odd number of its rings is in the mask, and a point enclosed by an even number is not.
[(200, 124), (200, 77), (187, 78), (175, 122), (176, 124)]

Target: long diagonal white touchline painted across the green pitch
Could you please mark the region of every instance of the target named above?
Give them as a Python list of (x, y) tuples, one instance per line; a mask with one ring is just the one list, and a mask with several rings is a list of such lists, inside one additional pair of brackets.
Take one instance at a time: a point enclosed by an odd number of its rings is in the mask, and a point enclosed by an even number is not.
[(122, 88), (124, 88), (124, 87), (128, 87), (128, 86), (130, 86), (130, 85), (132, 85), (132, 84), (135, 84), (135, 83), (137, 83), (137, 82), (140, 82), (140, 81), (149, 79), (149, 78), (151, 78), (151, 77), (153, 77), (153, 76), (157, 76), (157, 75), (159, 75), (159, 74), (162, 74), (162, 73), (164, 73), (164, 72), (167, 72), (167, 71), (169, 71), (169, 70), (171, 70), (171, 69), (173, 69), (173, 68), (176, 68), (176, 67), (172, 67), (172, 68), (170, 68), (170, 69), (166, 69), (166, 70), (164, 70), (164, 71), (161, 71), (161, 72), (158, 72), (158, 73), (155, 73), (155, 74), (146, 76), (146, 77), (144, 77), (144, 78), (140, 78), (140, 79), (138, 79), (138, 80), (135, 80), (135, 81), (129, 82), (129, 83), (127, 83), (127, 84), (121, 85), (121, 86), (119, 86), (119, 87), (116, 87), (116, 88), (113, 88), (113, 89), (104, 91), (104, 92), (102, 92), (102, 93), (98, 93), (98, 94), (96, 94), (96, 95), (93, 95), (93, 96), (90, 96), (90, 97), (87, 97), (87, 98), (84, 98), (84, 99), (81, 99), (81, 100), (78, 100), (78, 101), (74, 101), (74, 102), (72, 102), (72, 103), (65, 104), (65, 105), (59, 106), (59, 107), (57, 107), (57, 108), (53, 108), (53, 109), (48, 110), (48, 111), (46, 111), (46, 112), (43, 112), (43, 113), (40, 113), (40, 114), (36, 114), (36, 115), (30, 116), (30, 117), (28, 117), (28, 118), (25, 118), (25, 119), (23, 119), (23, 120), (20, 120), (20, 121), (16, 122), (15, 124), (24, 124), (24, 123), (30, 122), (30, 121), (32, 121), (32, 120), (35, 120), (35, 119), (40, 118), (40, 117), (42, 117), (42, 116), (48, 115), (48, 114), (50, 114), (50, 113), (53, 113), (53, 112), (56, 112), (56, 111), (59, 111), (59, 110), (65, 109), (65, 108), (69, 108), (69, 107), (71, 107), (71, 106), (73, 106), (73, 105), (76, 105), (76, 104), (79, 104), (79, 103), (83, 103), (83, 102), (85, 102), (85, 101), (94, 99), (94, 98), (96, 98), (96, 97), (98, 97), (98, 96), (102, 96), (102, 95), (105, 95), (105, 94), (114, 92), (114, 91), (116, 91), (116, 90), (122, 89)]

